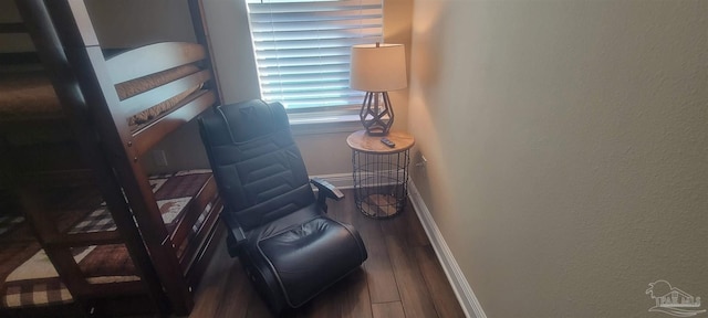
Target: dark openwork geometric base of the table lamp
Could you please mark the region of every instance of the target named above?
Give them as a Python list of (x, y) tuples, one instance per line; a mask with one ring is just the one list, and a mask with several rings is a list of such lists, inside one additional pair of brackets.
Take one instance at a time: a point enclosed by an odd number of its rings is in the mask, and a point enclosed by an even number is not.
[[(383, 103), (379, 103), (382, 99)], [(366, 92), (362, 110), (362, 125), (369, 136), (386, 136), (394, 125), (394, 108), (388, 98), (388, 92)]]

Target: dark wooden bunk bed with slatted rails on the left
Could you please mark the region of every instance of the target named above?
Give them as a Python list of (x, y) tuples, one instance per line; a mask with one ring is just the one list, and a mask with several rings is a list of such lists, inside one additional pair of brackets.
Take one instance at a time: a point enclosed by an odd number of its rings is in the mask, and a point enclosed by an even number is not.
[[(0, 136), (32, 132), (72, 151), (3, 173), (0, 316), (187, 315), (221, 201), (209, 170), (148, 176), (139, 158), (217, 104), (207, 46), (164, 42), (106, 59), (83, 1), (15, 4), (24, 23), (0, 30), (28, 32), (42, 67), (3, 74)], [(206, 43), (199, 3), (189, 6)]]

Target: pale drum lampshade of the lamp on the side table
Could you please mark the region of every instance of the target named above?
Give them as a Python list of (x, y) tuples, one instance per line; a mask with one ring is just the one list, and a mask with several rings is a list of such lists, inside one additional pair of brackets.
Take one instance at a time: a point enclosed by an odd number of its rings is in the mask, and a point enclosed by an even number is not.
[(363, 44), (352, 46), (350, 87), (365, 92), (405, 88), (406, 52), (403, 44)]

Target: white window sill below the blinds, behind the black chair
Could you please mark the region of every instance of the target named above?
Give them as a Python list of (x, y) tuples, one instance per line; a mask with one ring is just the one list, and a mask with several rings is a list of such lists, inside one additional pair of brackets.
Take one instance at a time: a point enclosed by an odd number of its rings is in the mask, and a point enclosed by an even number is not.
[(290, 129), (295, 136), (333, 132), (354, 132), (362, 129), (358, 115), (325, 113), (289, 114)]

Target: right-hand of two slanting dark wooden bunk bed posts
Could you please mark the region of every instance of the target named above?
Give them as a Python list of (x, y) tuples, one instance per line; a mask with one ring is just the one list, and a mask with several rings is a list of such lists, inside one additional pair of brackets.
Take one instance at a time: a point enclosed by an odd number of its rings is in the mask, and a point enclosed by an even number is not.
[[(92, 107), (92, 121), (101, 138), (103, 152), (107, 153), (133, 216), (138, 227), (143, 229), (143, 242), (152, 263), (158, 268), (156, 274), (169, 298), (171, 311), (187, 315), (194, 307), (190, 287), (183, 275), (147, 173), (138, 162), (142, 153), (137, 153), (133, 147), (133, 136), (125, 120), (127, 116), (118, 107), (119, 99), (108, 76), (85, 3), (83, 0), (52, 0), (46, 1), (46, 6), (66, 56), (76, 70), (86, 103)], [(112, 214), (116, 218), (119, 215), (115, 214), (124, 213)]]

